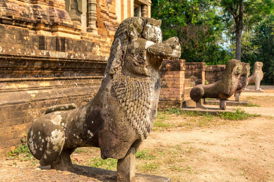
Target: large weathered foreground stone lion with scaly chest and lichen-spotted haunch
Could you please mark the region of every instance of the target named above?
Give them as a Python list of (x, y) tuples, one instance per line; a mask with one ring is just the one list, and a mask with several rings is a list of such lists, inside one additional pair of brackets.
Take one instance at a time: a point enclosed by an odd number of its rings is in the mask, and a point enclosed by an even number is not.
[(82, 146), (99, 147), (103, 159), (121, 159), (147, 138), (157, 115), (159, 67), (163, 58), (180, 57), (178, 38), (162, 42), (160, 24), (142, 17), (121, 22), (93, 100), (34, 121), (27, 144), (42, 166), (67, 169), (70, 154)]

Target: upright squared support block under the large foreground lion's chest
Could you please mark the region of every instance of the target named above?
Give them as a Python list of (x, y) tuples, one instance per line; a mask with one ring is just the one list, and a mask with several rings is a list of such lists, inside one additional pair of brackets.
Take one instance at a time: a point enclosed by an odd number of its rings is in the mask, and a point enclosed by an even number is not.
[(130, 147), (123, 159), (117, 162), (117, 182), (135, 182), (135, 147)]

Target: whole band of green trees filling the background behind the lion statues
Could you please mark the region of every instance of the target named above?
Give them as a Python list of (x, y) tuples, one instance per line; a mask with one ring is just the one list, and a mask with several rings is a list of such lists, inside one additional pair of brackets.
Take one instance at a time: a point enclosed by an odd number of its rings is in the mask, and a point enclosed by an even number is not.
[(273, 9), (273, 0), (152, 0), (151, 16), (164, 39), (179, 38), (187, 62), (261, 61), (273, 83)]

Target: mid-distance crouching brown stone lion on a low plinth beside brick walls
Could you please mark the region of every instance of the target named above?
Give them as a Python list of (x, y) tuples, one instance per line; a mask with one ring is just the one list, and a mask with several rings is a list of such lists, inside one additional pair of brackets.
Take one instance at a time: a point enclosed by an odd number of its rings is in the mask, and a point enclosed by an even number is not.
[(197, 107), (202, 107), (201, 98), (226, 100), (235, 93), (241, 73), (241, 62), (232, 59), (226, 64), (225, 70), (218, 81), (209, 85), (196, 85), (190, 91), (190, 97), (196, 102)]

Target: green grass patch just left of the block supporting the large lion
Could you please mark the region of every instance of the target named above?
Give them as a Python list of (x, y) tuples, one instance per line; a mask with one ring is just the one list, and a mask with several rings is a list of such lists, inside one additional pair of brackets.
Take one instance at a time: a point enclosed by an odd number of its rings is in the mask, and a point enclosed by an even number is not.
[(90, 158), (90, 162), (87, 165), (91, 167), (99, 167), (108, 170), (117, 170), (117, 159), (109, 158), (103, 160), (100, 157), (94, 157)]

